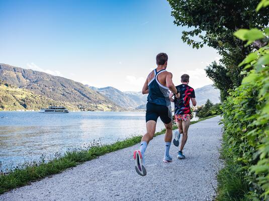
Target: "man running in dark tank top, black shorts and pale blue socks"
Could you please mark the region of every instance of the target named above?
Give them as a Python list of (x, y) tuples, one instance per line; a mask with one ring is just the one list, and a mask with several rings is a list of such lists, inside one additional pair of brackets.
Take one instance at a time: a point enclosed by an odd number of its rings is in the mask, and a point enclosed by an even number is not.
[(180, 94), (177, 92), (172, 82), (172, 74), (165, 70), (167, 67), (167, 60), (168, 57), (165, 53), (160, 53), (156, 56), (157, 68), (148, 75), (142, 89), (143, 94), (148, 94), (146, 110), (147, 133), (142, 137), (140, 150), (134, 151), (135, 170), (142, 176), (146, 175), (144, 153), (149, 141), (154, 136), (158, 117), (160, 117), (166, 128), (164, 137), (165, 154), (163, 161), (172, 161), (172, 158), (169, 155), (172, 139), (172, 113), (169, 90), (178, 98), (180, 97)]

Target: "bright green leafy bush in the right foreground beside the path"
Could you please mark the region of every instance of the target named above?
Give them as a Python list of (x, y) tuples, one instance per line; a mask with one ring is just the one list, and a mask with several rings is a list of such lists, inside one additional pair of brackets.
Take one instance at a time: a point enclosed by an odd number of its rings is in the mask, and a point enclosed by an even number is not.
[[(263, 31), (241, 29), (235, 36), (246, 41), (245, 46), (248, 46), (256, 40), (268, 39), (269, 29)], [(235, 174), (241, 175), (242, 183), (249, 185), (248, 191), (240, 198), (230, 200), (269, 200), (268, 65), (267, 43), (259, 50), (250, 53), (239, 64), (244, 67), (241, 74), (245, 77), (239, 87), (229, 91), (230, 96), (221, 106), (224, 117), (223, 152), (225, 158), (229, 158), (224, 169), (233, 164), (233, 167), (236, 167)], [(221, 172), (219, 174), (221, 193), (217, 200), (229, 200), (224, 197), (231, 194), (231, 189), (225, 187), (223, 182), (225, 179), (223, 180), (220, 175)]]

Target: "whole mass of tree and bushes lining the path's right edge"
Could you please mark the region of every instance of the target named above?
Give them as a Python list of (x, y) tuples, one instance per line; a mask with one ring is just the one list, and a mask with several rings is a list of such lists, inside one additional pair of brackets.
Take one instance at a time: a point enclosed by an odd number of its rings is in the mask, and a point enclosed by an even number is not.
[(194, 28), (183, 41), (222, 56), (205, 69), (221, 91), (224, 124), (216, 200), (269, 200), (269, 1), (168, 2), (175, 24)]

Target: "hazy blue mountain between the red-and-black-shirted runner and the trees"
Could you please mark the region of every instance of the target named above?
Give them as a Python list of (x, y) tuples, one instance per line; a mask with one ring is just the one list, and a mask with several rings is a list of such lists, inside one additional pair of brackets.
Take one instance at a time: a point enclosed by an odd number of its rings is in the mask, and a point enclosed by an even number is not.
[(204, 105), (207, 99), (214, 104), (220, 103), (220, 90), (216, 89), (213, 85), (206, 85), (195, 89), (195, 96), (198, 106)]

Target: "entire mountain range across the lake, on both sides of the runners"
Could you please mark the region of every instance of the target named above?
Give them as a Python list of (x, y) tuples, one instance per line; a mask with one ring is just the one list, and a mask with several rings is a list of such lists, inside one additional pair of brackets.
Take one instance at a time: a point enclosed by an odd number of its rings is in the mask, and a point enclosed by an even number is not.
[[(122, 92), (114, 87), (89, 87), (63, 77), (7, 64), (0, 64), (1, 80), (12, 85), (4, 86), (2, 83), (0, 90), (2, 109), (37, 110), (57, 104), (72, 110), (143, 110), (147, 102), (147, 94), (143, 95), (141, 92)], [(207, 99), (213, 103), (220, 102), (220, 92), (212, 85), (197, 88), (195, 92), (198, 106), (205, 104)]]

